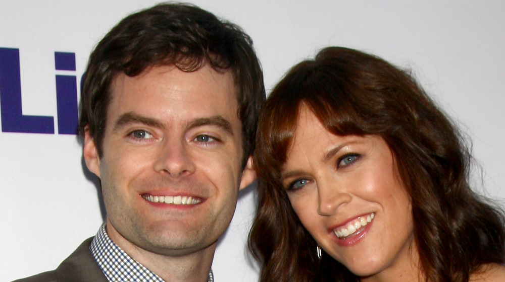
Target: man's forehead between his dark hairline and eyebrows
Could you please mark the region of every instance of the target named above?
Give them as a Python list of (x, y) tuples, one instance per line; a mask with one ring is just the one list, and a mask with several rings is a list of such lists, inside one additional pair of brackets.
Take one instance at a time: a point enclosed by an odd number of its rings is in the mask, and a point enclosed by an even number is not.
[(174, 65), (150, 67), (135, 77), (121, 73), (112, 83), (107, 115), (134, 113), (159, 120), (163, 114), (186, 120), (223, 116), (240, 122), (232, 80), (231, 72), (218, 73), (210, 67), (195, 72)]

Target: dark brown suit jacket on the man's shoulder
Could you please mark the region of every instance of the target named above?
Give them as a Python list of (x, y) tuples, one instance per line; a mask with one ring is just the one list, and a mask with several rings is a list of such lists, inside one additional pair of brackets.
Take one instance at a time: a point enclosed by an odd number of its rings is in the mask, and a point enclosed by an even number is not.
[(13, 282), (107, 282), (102, 269), (89, 251), (93, 238), (88, 238), (55, 270)]

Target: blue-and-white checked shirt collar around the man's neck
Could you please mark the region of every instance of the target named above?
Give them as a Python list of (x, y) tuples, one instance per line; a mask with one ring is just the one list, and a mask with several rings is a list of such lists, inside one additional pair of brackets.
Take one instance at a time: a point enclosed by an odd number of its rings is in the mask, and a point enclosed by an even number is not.
[[(89, 250), (110, 282), (165, 282), (116, 245), (107, 235), (105, 226), (104, 223), (100, 227)], [(208, 282), (214, 282), (212, 269), (209, 272)]]

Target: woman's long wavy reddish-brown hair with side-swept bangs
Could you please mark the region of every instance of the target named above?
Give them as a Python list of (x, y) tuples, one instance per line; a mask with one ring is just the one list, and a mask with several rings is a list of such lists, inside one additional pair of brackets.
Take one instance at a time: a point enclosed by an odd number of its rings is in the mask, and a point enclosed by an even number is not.
[(257, 132), (260, 183), (249, 248), (261, 281), (358, 281), (323, 253), (301, 225), (279, 183), (300, 105), (337, 135), (379, 135), (395, 156), (412, 200), (422, 276), (468, 281), (503, 263), (503, 212), (469, 186), (471, 155), (460, 131), (407, 73), (357, 50), (328, 47), (295, 65), (274, 88)]

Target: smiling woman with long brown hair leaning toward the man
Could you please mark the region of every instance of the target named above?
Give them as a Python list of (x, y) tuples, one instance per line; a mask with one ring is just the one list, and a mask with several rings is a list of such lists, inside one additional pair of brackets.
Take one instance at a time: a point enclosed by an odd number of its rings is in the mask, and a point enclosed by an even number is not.
[(261, 281), (505, 281), (503, 212), (470, 189), (456, 127), (386, 61), (329, 47), (297, 64), (257, 146)]

